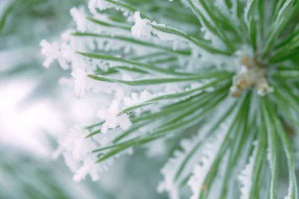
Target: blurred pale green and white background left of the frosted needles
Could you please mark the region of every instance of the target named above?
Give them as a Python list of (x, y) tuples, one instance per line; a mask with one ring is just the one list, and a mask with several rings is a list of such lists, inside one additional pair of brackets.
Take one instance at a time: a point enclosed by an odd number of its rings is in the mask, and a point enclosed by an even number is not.
[[(166, 157), (145, 150), (121, 157), (99, 182), (79, 184), (62, 159), (56, 136), (96, 110), (59, 84), (70, 71), (42, 66), (39, 42), (72, 27), (69, 9), (85, 0), (0, 0), (0, 199), (164, 199), (156, 194)], [(78, 114), (84, 112), (84, 114)], [(167, 156), (167, 155), (166, 155)]]

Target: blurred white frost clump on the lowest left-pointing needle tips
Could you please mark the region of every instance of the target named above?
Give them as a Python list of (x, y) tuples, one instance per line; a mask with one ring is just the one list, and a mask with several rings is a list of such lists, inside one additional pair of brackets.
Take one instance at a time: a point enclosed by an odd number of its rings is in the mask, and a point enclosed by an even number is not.
[[(90, 175), (93, 181), (99, 179), (99, 173), (108, 171), (114, 163), (114, 158), (96, 163), (97, 154), (92, 151), (99, 147), (105, 147), (110, 144), (111, 140), (119, 134), (113, 134), (114, 137), (99, 137), (98, 139), (86, 139), (85, 137), (90, 132), (84, 130), (84, 126), (76, 123), (70, 127), (67, 133), (58, 137), (59, 147), (53, 153), (53, 157), (57, 158), (59, 155), (64, 157), (65, 164), (74, 173), (73, 180), (80, 182), (84, 180), (86, 175)], [(98, 134), (101, 136), (103, 134)]]

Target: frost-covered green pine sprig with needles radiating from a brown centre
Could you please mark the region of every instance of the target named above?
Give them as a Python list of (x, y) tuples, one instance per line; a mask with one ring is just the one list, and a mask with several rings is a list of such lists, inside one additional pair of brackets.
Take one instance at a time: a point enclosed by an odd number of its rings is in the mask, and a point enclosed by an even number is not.
[[(170, 199), (298, 198), (298, 0), (90, 0), (88, 8), (70, 10), (76, 28), (60, 41), (40, 43), (45, 67), (57, 60), (70, 70), (75, 96), (107, 101), (91, 101), (99, 110), (90, 125), (58, 140), (55, 156), (76, 182), (98, 180), (140, 146), (158, 156), (172, 142), (157, 187)], [(181, 192), (188, 186), (192, 193)]]

